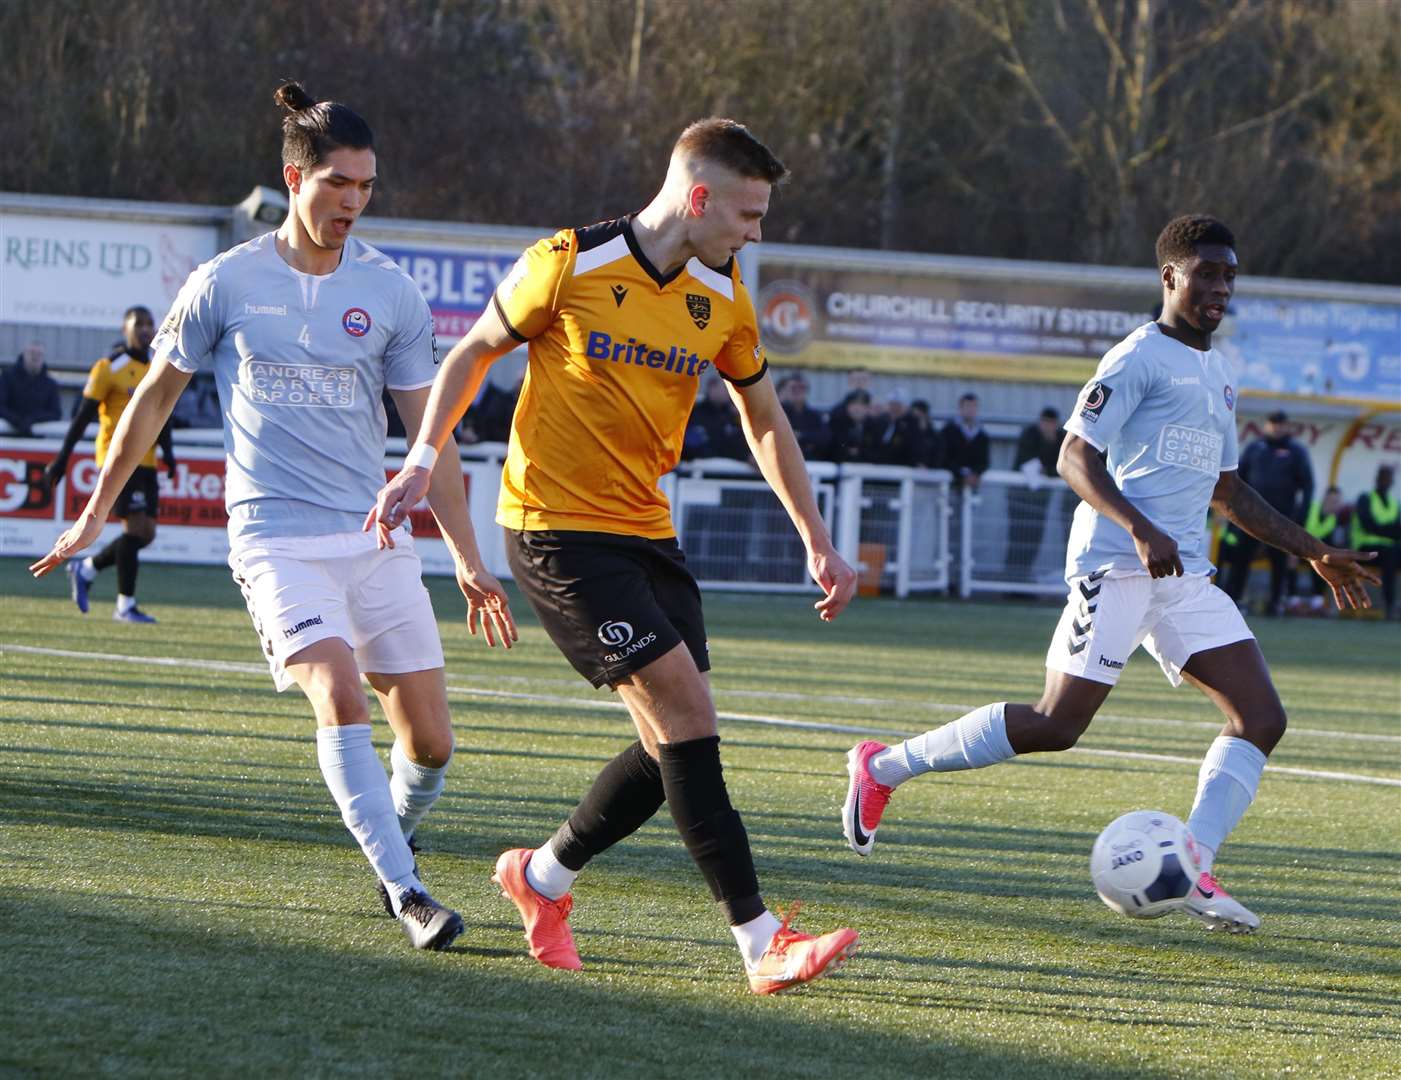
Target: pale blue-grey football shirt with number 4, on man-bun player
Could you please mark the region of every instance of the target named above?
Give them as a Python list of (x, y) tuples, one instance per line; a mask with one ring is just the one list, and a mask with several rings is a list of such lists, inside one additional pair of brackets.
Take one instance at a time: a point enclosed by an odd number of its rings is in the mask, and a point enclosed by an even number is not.
[(153, 349), (213, 367), (235, 544), (359, 529), (385, 479), (381, 394), (437, 373), (423, 294), (354, 237), (319, 276), (289, 266), (273, 233), (230, 248), (189, 276)]

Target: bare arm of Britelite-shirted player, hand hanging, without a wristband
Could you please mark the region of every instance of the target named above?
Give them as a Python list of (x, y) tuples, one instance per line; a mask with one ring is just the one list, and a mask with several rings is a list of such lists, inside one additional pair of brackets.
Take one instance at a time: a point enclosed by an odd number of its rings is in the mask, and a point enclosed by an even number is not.
[(803, 451), (793, 437), (793, 427), (779, 403), (773, 381), (764, 377), (748, 387), (727, 384), (727, 388), (734, 408), (740, 410), (750, 452), (807, 548), (807, 570), (822, 590), (822, 598), (813, 607), (824, 622), (831, 622), (852, 602), (856, 572), (832, 545), (832, 536), (813, 496)]

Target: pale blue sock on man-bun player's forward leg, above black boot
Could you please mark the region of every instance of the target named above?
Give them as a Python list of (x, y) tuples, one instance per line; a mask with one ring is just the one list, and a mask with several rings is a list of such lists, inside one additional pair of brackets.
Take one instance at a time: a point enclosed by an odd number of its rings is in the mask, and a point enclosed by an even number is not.
[(317, 728), (317, 761), (326, 787), (340, 807), (340, 819), (360, 843), (374, 873), (389, 891), (394, 911), (410, 888), (423, 888), (413, 873), (413, 853), (399, 829), (380, 755), (370, 742), (368, 724)]

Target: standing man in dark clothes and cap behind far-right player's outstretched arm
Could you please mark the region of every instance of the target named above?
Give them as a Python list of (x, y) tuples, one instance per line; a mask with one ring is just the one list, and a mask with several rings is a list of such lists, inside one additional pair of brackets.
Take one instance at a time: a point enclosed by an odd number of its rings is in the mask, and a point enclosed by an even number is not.
[[(1240, 452), (1240, 478), (1254, 487), (1261, 499), (1296, 524), (1304, 524), (1313, 503), (1313, 465), (1309, 451), (1289, 437), (1289, 417), (1279, 409), (1265, 420), (1265, 434)], [(1226, 563), (1222, 588), (1237, 604), (1250, 580), (1250, 565), (1259, 551), (1259, 541), (1230, 525), (1222, 538), (1222, 559)], [(1269, 611), (1283, 611), (1285, 584), (1293, 577), (1289, 555), (1267, 546), (1269, 555)]]

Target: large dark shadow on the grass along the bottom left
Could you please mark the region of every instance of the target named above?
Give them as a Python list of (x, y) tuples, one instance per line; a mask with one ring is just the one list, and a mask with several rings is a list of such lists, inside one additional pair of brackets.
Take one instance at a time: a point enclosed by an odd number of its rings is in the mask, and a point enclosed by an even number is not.
[[(45, 934), (18, 932), (36, 920)], [(472, 943), (412, 954), (388, 937), (340, 941), (345, 920), (315, 912), (269, 912), (259, 923), (99, 896), (7, 896), (0, 1065), (70, 1076), (1175, 1073), (1132, 1060), (1126, 1046), (1122, 1065), (1096, 1065), (991, 1035), (954, 1042), (909, 1018), (906, 1030), (873, 1027), (846, 1014), (850, 972), (754, 999), (695, 969), (619, 961), (607, 975), (551, 972)], [(537, 1053), (545, 1032), (558, 1039)]]

